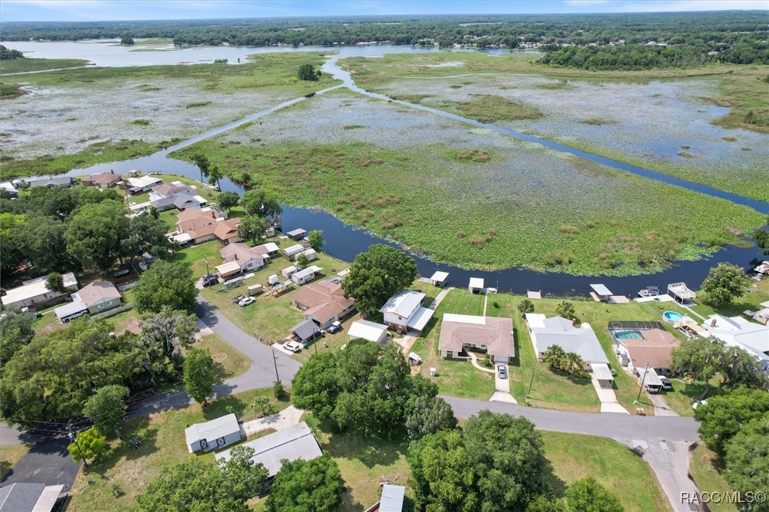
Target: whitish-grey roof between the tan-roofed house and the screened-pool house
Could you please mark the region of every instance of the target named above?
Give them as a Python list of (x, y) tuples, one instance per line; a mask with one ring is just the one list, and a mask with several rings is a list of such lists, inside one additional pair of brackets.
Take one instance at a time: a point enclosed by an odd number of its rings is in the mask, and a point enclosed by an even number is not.
[(590, 325), (582, 324), (582, 327), (574, 327), (571, 320), (566, 318), (551, 317), (544, 318), (544, 320), (543, 318), (543, 314), (526, 314), (531, 338), (537, 347), (538, 354), (541, 355), (552, 345), (558, 345), (566, 352), (579, 354), (582, 361), (588, 363), (609, 362)]

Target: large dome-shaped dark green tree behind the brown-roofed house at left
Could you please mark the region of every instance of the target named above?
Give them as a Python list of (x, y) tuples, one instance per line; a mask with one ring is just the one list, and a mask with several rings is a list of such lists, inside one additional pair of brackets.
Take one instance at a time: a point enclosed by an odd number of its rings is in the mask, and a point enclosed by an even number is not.
[(83, 268), (107, 272), (116, 259), (122, 263), (121, 242), (128, 238), (128, 218), (118, 201), (86, 204), (69, 221), (67, 252)]

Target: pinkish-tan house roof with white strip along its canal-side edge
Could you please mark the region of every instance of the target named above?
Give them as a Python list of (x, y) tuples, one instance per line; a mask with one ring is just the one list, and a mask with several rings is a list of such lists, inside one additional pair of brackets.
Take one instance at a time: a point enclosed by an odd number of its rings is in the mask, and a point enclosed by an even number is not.
[(511, 318), (444, 314), (439, 351), (461, 352), (463, 344), (486, 345), (489, 355), (514, 357)]

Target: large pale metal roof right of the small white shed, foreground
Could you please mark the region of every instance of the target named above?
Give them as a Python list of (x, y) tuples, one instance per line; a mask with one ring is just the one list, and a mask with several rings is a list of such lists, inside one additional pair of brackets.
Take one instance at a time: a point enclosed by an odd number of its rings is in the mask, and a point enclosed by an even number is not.
[[(274, 477), (281, 469), (282, 460), (292, 462), (294, 460), (312, 460), (322, 455), (321, 447), (315, 439), (310, 427), (302, 421), (299, 424), (281, 429), (274, 434), (259, 437), (254, 441), (241, 444), (253, 448), (257, 464), (263, 464), (267, 468), (270, 477)], [(216, 454), (217, 460), (229, 460), (230, 450), (224, 450)]]

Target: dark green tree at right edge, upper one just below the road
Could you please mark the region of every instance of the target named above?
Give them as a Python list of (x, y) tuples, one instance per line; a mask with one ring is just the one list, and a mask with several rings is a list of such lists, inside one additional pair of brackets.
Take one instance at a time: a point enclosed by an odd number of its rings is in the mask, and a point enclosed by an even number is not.
[(769, 413), (769, 392), (741, 387), (731, 393), (707, 399), (694, 410), (700, 423), (697, 432), (702, 441), (719, 454), (724, 445), (736, 436), (742, 425)]

